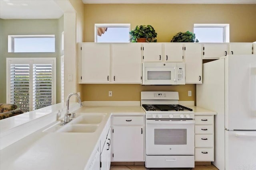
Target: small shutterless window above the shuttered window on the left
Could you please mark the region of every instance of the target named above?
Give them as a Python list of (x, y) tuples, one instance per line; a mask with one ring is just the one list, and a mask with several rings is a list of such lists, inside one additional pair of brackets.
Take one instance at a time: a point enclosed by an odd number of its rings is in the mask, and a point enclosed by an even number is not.
[(55, 52), (55, 35), (8, 35), (8, 52)]

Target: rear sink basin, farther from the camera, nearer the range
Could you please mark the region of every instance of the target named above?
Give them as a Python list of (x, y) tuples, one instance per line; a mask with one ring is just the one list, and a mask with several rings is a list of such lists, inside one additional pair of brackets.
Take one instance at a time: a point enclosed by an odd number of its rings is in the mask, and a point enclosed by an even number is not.
[(72, 120), (72, 124), (98, 124), (100, 123), (106, 114), (84, 114), (78, 116), (76, 119)]

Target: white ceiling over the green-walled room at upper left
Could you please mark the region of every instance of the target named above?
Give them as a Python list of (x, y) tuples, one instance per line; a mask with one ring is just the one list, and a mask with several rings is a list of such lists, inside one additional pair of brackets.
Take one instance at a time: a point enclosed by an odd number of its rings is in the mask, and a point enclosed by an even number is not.
[(0, 0), (2, 19), (56, 19), (62, 15), (54, 0)]

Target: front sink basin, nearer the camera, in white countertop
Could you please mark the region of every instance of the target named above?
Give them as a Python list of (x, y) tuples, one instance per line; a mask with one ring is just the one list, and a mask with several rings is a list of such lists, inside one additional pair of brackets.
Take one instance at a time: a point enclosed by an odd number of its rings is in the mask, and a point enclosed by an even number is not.
[(96, 131), (99, 125), (81, 125), (81, 124), (70, 124), (65, 125), (63, 128), (56, 132), (70, 132), (70, 133), (93, 133)]

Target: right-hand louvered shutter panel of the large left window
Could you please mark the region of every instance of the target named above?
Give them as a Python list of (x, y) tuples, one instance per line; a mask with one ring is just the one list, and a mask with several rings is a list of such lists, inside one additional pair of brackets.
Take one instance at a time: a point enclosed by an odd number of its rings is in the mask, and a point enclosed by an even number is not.
[(52, 87), (52, 64), (33, 64), (33, 110), (53, 104)]

